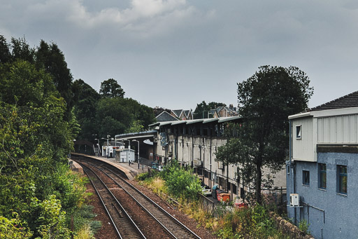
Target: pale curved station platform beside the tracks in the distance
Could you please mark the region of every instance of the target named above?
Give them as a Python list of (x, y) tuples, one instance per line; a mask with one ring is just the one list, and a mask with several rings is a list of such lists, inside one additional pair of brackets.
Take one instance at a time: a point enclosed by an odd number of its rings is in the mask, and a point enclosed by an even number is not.
[(106, 157), (101, 157), (101, 156), (91, 156), (91, 155), (86, 155), (86, 154), (82, 154), (82, 153), (73, 153), (74, 155), (78, 155), (78, 156), (86, 156), (89, 158), (94, 158), (98, 161), (104, 161), (106, 163), (110, 163), (110, 165), (113, 165), (115, 168), (118, 168), (119, 170), (121, 170), (129, 180), (134, 179), (134, 177), (136, 177), (136, 175), (142, 173), (142, 172), (148, 172), (148, 166), (146, 165), (139, 165), (138, 168), (138, 163), (131, 163), (129, 165), (129, 163), (120, 163), (118, 161), (115, 160), (115, 158), (106, 158)]

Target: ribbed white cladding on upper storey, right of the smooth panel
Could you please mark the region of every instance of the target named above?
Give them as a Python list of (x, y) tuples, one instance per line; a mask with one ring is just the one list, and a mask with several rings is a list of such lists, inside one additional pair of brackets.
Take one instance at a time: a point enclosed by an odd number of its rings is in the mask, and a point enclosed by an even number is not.
[(357, 143), (358, 114), (331, 116), (317, 119), (317, 143)]

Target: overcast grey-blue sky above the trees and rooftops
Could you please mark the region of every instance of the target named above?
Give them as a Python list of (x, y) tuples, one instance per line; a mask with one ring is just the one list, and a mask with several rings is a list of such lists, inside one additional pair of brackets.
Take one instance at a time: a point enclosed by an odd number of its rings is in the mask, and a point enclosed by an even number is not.
[(356, 0), (0, 0), (0, 34), (56, 43), (74, 80), (150, 107), (236, 106), (262, 65), (306, 72), (309, 107), (358, 90)]

